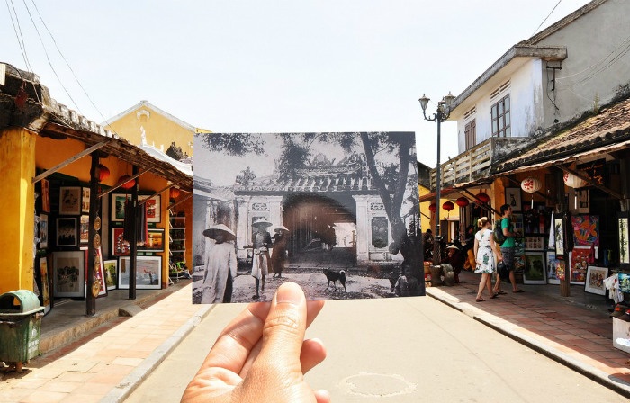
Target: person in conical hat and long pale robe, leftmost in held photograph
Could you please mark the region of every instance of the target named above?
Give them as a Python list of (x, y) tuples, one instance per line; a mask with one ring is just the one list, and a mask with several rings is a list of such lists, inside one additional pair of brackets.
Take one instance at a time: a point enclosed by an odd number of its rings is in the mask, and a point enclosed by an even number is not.
[(231, 302), (232, 282), (237, 276), (237, 257), (234, 232), (224, 224), (215, 224), (203, 230), (205, 237), (214, 242), (205, 254), (202, 282), (202, 304)]

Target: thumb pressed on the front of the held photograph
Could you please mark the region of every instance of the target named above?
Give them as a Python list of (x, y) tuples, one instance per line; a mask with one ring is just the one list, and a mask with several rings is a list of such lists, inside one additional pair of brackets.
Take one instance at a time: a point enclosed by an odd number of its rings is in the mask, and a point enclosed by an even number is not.
[(263, 327), (263, 345), (259, 360), (276, 373), (299, 378), (291, 381), (302, 381), (300, 354), (305, 331), (304, 291), (294, 282), (284, 282), (275, 292)]

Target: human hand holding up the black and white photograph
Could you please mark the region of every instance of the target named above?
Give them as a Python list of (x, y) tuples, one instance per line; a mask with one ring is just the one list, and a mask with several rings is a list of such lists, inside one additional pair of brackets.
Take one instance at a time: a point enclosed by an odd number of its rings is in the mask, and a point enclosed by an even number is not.
[(323, 306), (293, 282), (272, 302), (249, 304), (223, 329), (182, 402), (329, 403), (329, 392), (311, 390), (303, 376), (326, 358), (319, 339), (304, 340)]

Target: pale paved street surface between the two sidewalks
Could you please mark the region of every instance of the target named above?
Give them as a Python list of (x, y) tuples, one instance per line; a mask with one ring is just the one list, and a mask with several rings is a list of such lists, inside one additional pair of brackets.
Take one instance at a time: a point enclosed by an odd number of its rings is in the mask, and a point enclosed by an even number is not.
[[(125, 401), (178, 401), (220, 329), (242, 308), (212, 309)], [(328, 301), (307, 336), (329, 349), (307, 380), (337, 402), (624, 399), (431, 297)]]

